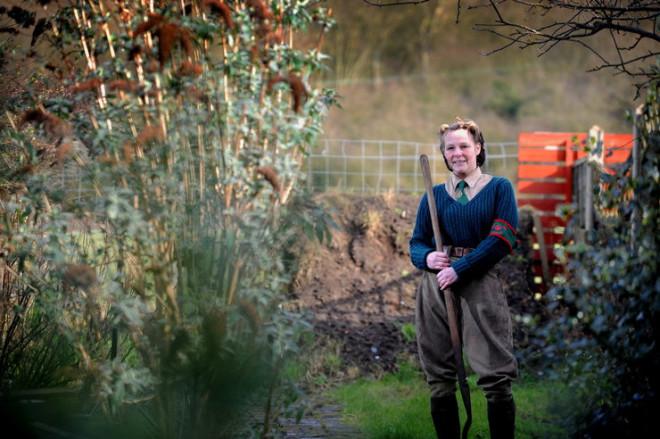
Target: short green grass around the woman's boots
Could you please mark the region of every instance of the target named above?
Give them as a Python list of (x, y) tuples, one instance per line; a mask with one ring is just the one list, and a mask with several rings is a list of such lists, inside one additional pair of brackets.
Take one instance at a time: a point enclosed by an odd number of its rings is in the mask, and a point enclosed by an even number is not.
[[(468, 379), (472, 396), (471, 438), (488, 438), (486, 400)], [(514, 384), (516, 437), (567, 437), (561, 418), (553, 413), (553, 401), (568, 389), (557, 383), (522, 379)], [(459, 393), (457, 393), (457, 396)], [(416, 366), (403, 364), (396, 373), (380, 380), (360, 379), (333, 389), (331, 396), (344, 407), (346, 422), (360, 428), (367, 438), (414, 439), (435, 437), (429, 412), (429, 391)], [(460, 398), (460, 396), (459, 396)], [(461, 405), (459, 399), (459, 406)], [(461, 425), (465, 420), (461, 407)]]

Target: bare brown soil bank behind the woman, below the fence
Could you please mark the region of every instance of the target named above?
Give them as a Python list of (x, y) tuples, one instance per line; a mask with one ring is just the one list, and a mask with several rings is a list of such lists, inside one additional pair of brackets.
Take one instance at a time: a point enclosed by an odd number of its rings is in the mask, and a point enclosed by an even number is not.
[[(421, 275), (408, 254), (419, 197), (325, 194), (320, 201), (339, 227), (329, 246), (307, 246), (294, 284), (296, 300), (311, 312), (317, 335), (340, 341), (344, 365), (361, 373), (391, 371), (399, 356), (416, 358), (416, 343), (404, 336), (402, 325), (414, 321)], [(522, 217), (516, 253), (496, 267), (519, 347), (527, 338), (523, 316), (542, 313), (529, 287), (530, 233)]]

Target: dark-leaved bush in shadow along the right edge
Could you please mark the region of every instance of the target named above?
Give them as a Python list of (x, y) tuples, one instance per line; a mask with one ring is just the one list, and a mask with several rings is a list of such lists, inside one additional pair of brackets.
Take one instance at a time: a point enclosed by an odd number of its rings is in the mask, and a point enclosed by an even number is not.
[(566, 247), (568, 278), (549, 293), (554, 318), (534, 349), (547, 371), (570, 380), (579, 437), (650, 434), (658, 400), (660, 283), (658, 87), (637, 122), (640, 175), (632, 159), (602, 172), (595, 187), (598, 227)]

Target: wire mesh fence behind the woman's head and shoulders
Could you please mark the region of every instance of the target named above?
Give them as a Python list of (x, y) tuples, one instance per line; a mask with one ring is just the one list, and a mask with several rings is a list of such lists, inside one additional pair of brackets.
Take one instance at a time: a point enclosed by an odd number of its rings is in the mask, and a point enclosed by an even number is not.
[[(420, 154), (428, 155), (435, 184), (443, 182), (449, 171), (438, 144), (419, 142), (322, 139), (307, 156), (304, 170), (309, 189), (317, 192), (421, 193)], [(486, 144), (485, 172), (514, 181), (517, 166), (516, 142)]]

